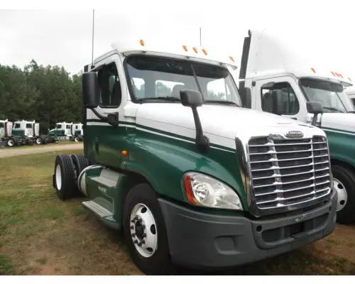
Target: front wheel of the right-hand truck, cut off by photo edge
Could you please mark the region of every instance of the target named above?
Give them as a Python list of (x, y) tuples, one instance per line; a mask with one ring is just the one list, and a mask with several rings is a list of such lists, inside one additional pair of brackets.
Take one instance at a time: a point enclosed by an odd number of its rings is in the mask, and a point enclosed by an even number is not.
[(337, 222), (349, 224), (355, 220), (355, 175), (342, 165), (332, 165), (334, 189), (337, 190)]

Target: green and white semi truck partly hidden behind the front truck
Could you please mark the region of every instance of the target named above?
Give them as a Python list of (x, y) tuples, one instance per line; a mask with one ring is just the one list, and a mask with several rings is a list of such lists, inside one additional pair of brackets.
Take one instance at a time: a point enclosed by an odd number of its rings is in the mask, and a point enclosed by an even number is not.
[[(351, 223), (355, 221), (355, 109), (344, 92), (344, 87), (352, 85), (351, 78), (324, 66), (325, 59), (317, 56), (317, 48), (322, 46), (302, 36), (305, 33), (296, 40), (294, 33), (249, 31), (239, 70), (241, 97), (251, 109), (305, 124), (312, 124), (314, 117), (307, 103), (322, 104), (324, 111), (314, 124), (325, 131), (329, 142), (338, 195), (337, 222)], [(295, 45), (302, 41), (305, 45)], [(274, 89), (282, 90), (280, 102), (272, 97)], [(276, 104), (283, 109), (275, 111)]]

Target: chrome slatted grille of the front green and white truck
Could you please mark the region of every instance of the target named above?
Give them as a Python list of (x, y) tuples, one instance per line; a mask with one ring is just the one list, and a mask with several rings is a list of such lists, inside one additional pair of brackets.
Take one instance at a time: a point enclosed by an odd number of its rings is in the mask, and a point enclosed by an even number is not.
[(249, 141), (251, 185), (259, 209), (304, 204), (330, 192), (327, 140), (322, 136)]

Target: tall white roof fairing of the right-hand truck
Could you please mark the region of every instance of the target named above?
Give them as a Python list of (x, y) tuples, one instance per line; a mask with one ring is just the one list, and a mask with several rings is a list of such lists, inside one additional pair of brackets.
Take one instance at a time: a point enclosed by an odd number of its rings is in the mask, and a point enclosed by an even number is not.
[(249, 49), (246, 78), (292, 73), (296, 77), (314, 77), (352, 86), (349, 76), (327, 63), (320, 55), (324, 43), (318, 43), (312, 34), (278, 29), (249, 31)]

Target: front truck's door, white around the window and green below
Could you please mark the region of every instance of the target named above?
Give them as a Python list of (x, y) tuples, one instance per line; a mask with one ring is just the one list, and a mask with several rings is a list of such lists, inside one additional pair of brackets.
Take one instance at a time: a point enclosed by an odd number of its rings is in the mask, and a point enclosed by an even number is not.
[[(116, 62), (117, 63), (116, 63)], [(95, 70), (93, 70), (95, 71)], [(99, 119), (93, 112), (91, 119), (87, 120), (85, 129), (85, 141), (88, 158), (94, 163), (119, 167), (121, 163), (121, 151), (127, 150), (127, 130), (124, 126), (124, 103), (126, 103), (126, 81), (119, 55), (107, 58), (103, 65), (97, 67), (99, 83), (99, 107), (97, 112), (104, 117), (109, 114), (118, 114), (119, 124), (109, 124)]]

